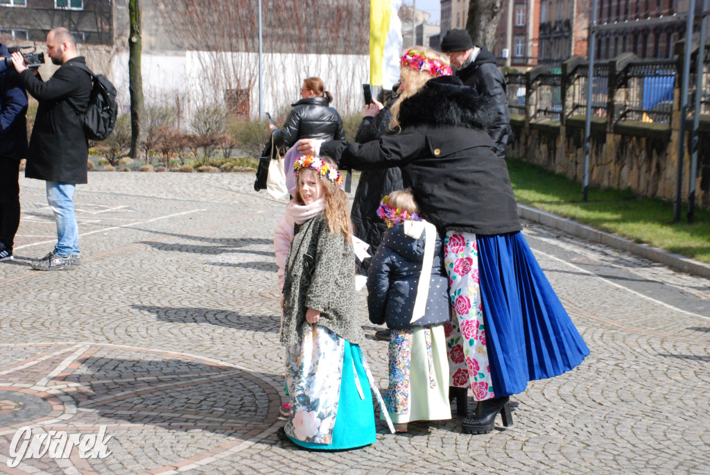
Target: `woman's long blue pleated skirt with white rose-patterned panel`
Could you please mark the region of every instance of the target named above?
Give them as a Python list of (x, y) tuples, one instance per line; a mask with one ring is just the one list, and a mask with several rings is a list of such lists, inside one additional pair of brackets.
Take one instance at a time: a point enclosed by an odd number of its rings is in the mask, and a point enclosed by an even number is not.
[(476, 400), (522, 393), (589, 355), (522, 233), (449, 231), (444, 244), (452, 386), (468, 386)]

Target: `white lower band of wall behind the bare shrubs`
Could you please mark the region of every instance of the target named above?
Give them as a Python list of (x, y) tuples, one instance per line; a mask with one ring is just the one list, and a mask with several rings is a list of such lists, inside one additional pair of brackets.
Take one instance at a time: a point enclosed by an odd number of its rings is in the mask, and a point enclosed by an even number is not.
[[(127, 50), (111, 59), (110, 78), (119, 91), (122, 110), (129, 110)], [(162, 51), (143, 53), (143, 95), (146, 104), (169, 104), (177, 100), (183, 111), (181, 124), (203, 104), (224, 105), (226, 89), (250, 90), (250, 115), (258, 115), (258, 55), (207, 51)], [(300, 99), (306, 77), (317, 76), (333, 94), (332, 106), (341, 115), (362, 109), (361, 84), (369, 82), (368, 55), (263, 55), (263, 107), (273, 116), (285, 113)]]

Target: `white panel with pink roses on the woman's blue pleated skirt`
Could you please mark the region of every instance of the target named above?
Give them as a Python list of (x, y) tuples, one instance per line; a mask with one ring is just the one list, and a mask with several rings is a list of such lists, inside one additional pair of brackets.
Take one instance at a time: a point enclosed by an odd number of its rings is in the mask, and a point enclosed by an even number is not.
[(475, 400), (495, 398), (488, 364), (486, 325), (479, 286), (476, 234), (449, 231), (444, 239), (452, 322), (444, 324), (450, 386), (470, 388)]

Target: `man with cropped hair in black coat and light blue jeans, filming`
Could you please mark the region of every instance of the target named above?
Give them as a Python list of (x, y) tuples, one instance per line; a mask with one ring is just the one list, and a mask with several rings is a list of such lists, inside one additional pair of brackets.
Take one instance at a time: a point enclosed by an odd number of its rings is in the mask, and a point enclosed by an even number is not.
[(24, 87), (39, 107), (30, 137), (25, 176), (47, 182), (47, 201), (57, 222), (57, 245), (32, 267), (39, 271), (72, 269), (80, 263), (79, 229), (74, 212), (75, 185), (87, 182), (89, 147), (81, 117), (89, 106), (92, 78), (72, 64), (85, 65), (67, 28), (47, 34), (47, 55), (60, 68), (44, 82), (26, 67), (21, 53), (12, 54)]

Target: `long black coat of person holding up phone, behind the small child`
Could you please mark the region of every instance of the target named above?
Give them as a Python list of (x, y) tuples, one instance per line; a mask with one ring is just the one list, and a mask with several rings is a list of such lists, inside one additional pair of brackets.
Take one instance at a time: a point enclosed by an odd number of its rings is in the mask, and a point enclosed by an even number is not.
[[(388, 133), (392, 119), (392, 104), (393, 101), (390, 101), (376, 116), (362, 119), (355, 136), (358, 143), (377, 140), (384, 133)], [(402, 189), (402, 171), (397, 167), (366, 170), (360, 174), (350, 218), (353, 222), (353, 234), (370, 244), (371, 253), (377, 251), (382, 235), (387, 231), (387, 225), (376, 214), (380, 200), (383, 196)], [(365, 269), (368, 261), (363, 263)]]

